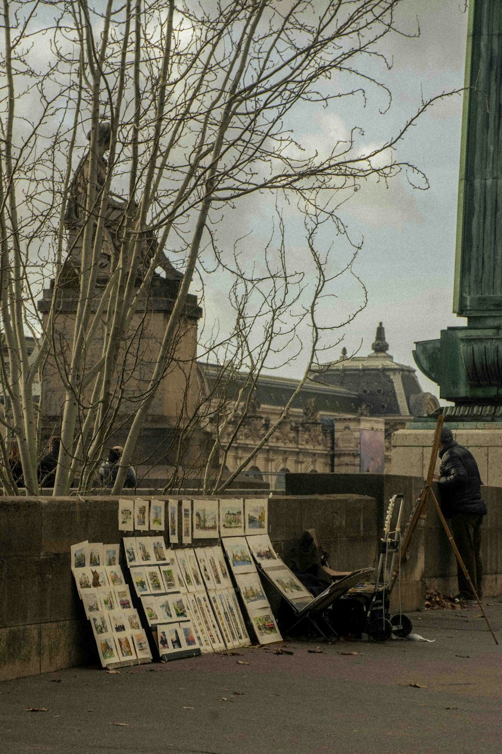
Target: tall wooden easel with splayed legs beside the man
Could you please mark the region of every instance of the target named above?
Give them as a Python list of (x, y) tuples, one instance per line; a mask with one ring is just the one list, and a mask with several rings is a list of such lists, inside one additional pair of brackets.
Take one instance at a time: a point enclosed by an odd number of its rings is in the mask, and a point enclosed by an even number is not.
[(495, 644), (498, 644), (497, 637), (493, 633), (493, 629), (491, 628), (490, 621), (488, 621), (488, 616), (486, 615), (485, 609), (483, 608), (481, 604), (481, 600), (479, 599), (479, 596), (477, 595), (477, 592), (474, 589), (473, 582), (470, 580), (470, 575), (467, 572), (466, 567), (464, 566), (464, 561), (461, 558), (461, 554), (458, 552), (458, 547), (455, 544), (455, 541), (452, 536), (452, 532), (450, 532), (449, 530), (449, 526), (446, 523), (446, 518), (443, 516), (440, 504), (438, 503), (436, 495), (434, 494), (434, 490), (432, 489), (432, 483), (434, 481), (434, 469), (436, 468), (437, 454), (440, 450), (441, 431), (443, 430), (443, 422), (444, 422), (443, 415), (438, 416), (436, 432), (434, 434), (434, 442), (432, 443), (431, 461), (429, 462), (429, 470), (427, 471), (427, 479), (425, 480), (424, 489), (422, 489), (420, 495), (418, 496), (418, 500), (415, 503), (415, 507), (412, 510), (412, 515), (410, 516), (408, 526), (406, 527), (406, 532), (401, 541), (399, 563), (396, 569), (394, 569), (394, 573), (392, 574), (390, 589), (394, 587), (394, 583), (397, 579), (397, 574), (400, 571), (401, 562), (406, 557), (406, 552), (412, 540), (413, 533), (415, 532), (415, 529), (417, 528), (418, 521), (424, 520), (425, 516), (427, 516), (427, 507), (429, 504), (429, 500), (432, 500), (434, 502), (434, 506), (436, 507), (437, 515), (440, 517), (440, 522), (443, 524), (443, 529), (446, 532), (446, 536), (448, 537), (449, 542), (452, 545), (452, 550), (455, 553), (456, 559), (458, 560), (458, 565), (461, 567), (462, 571), (464, 572), (465, 578), (467, 578), (467, 581), (469, 582), (469, 586), (473, 592), (473, 595), (476, 597), (476, 601), (479, 605), (479, 609), (482, 612), (483, 618), (485, 618), (486, 624), (488, 625), (488, 628), (490, 629), (490, 633), (491, 633), (491, 636), (493, 636)]

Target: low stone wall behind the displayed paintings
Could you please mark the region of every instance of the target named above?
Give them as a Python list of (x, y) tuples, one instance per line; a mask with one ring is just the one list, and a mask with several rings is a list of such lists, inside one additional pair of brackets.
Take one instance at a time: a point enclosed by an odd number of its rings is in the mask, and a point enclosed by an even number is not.
[[(96, 661), (70, 570), (70, 546), (85, 539), (120, 541), (117, 499), (0, 498), (0, 680)], [(303, 529), (315, 528), (334, 566), (356, 569), (373, 562), (373, 498), (275, 498), (269, 526), (286, 559)]]

